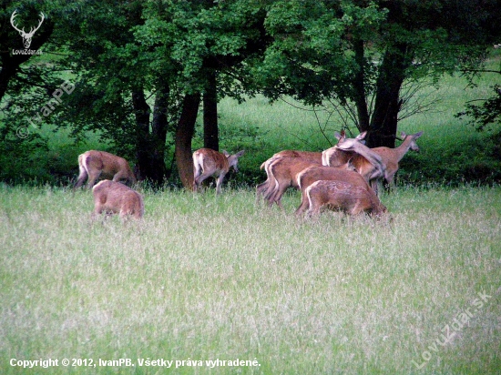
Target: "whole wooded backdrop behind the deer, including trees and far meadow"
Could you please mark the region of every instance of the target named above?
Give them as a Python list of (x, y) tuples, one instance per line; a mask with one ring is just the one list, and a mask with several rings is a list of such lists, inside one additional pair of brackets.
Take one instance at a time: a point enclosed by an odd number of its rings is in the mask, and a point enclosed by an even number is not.
[(191, 153), (210, 147), (246, 149), (230, 180), (254, 185), (281, 149), (321, 151), (342, 129), (394, 147), (404, 129), (424, 130), (404, 183), (499, 182), (499, 6), (4, 1), (0, 179), (68, 185), (97, 148), (191, 187)]

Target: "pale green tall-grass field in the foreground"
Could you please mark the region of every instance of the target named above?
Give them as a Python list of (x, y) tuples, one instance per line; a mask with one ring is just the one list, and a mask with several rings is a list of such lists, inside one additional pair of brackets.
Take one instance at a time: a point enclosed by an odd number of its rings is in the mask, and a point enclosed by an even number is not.
[(297, 192), (284, 211), (246, 188), (143, 194), (142, 223), (91, 224), (88, 191), (0, 187), (0, 373), (501, 369), (498, 186), (401, 187), (380, 221), (294, 218)]

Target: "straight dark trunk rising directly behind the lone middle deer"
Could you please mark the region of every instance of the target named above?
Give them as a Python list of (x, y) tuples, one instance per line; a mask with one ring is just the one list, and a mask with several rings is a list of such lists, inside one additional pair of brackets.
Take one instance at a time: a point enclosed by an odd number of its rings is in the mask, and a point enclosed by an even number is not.
[(218, 131), (218, 87), (216, 71), (210, 70), (203, 94), (203, 147), (220, 150)]

